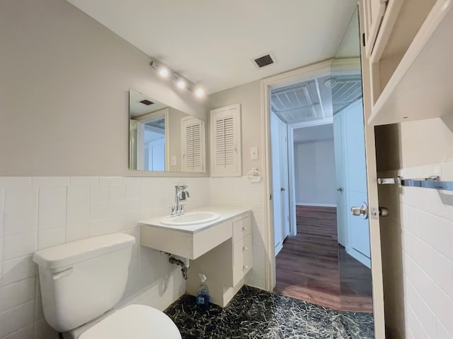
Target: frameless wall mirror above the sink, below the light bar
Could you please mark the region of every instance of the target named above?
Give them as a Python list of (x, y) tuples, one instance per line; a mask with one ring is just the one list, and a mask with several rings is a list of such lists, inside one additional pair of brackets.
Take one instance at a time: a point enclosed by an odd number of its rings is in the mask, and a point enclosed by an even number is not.
[(205, 121), (129, 90), (129, 168), (206, 171)]

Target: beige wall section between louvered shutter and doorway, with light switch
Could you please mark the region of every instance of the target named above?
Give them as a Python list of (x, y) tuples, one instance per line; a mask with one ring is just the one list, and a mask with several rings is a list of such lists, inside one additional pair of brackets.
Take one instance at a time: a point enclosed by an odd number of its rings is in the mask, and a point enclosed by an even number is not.
[[(242, 175), (253, 167), (263, 169), (263, 121), (260, 81), (253, 81), (210, 95), (209, 109), (241, 104)], [(250, 160), (250, 148), (258, 147), (258, 160)]]

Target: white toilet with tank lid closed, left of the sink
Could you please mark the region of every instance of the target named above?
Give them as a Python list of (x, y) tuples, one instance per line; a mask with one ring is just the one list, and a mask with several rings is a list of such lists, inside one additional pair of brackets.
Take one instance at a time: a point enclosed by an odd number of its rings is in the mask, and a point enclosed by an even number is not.
[(116, 233), (33, 255), (45, 319), (65, 339), (181, 339), (175, 323), (158, 309), (114, 309), (125, 292), (134, 243), (134, 237)]

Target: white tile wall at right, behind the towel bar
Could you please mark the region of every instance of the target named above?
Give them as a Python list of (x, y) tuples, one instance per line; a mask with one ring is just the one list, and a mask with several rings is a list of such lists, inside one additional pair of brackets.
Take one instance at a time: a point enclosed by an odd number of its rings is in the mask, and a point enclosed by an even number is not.
[[(441, 174), (453, 180), (453, 164), (412, 167), (403, 177)], [(401, 247), (406, 338), (453, 338), (453, 194), (401, 190)]]

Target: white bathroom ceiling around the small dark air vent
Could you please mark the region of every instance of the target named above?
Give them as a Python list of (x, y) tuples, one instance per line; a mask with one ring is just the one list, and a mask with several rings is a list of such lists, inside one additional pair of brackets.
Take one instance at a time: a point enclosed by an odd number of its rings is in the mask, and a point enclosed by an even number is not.
[[(357, 0), (68, 0), (216, 93), (335, 56)], [(251, 61), (273, 52), (277, 62)]]

